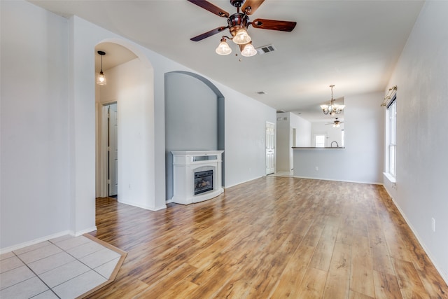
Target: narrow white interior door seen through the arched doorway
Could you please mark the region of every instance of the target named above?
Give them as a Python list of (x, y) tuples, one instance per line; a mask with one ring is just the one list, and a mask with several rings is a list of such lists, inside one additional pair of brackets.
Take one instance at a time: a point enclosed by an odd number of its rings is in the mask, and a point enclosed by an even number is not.
[(118, 194), (117, 104), (109, 105), (109, 196)]

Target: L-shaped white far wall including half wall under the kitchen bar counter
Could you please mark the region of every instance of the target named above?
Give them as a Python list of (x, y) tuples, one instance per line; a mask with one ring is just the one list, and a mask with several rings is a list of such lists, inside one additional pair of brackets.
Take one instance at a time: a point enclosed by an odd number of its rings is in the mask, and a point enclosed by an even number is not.
[[(294, 176), (381, 183), (384, 160), (383, 92), (344, 98), (344, 149), (297, 149)], [(316, 171), (318, 167), (318, 171)]]

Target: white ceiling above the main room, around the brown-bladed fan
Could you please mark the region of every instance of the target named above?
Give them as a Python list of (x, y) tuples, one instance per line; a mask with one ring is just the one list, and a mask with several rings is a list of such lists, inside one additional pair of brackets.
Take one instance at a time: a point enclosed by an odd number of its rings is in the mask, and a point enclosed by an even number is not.
[[(231, 41), (231, 55), (216, 55), (223, 34), (190, 41), (227, 22), (187, 0), (30, 2), (65, 17), (78, 15), (248, 97), (277, 110), (302, 112), (310, 120), (323, 115), (318, 105), (330, 101), (331, 84), (336, 99), (387, 88), (423, 5), (420, 0), (265, 0), (251, 20), (295, 21), (297, 26), (293, 32), (249, 27), (255, 48), (272, 44), (276, 51), (241, 57)], [(228, 0), (209, 2), (236, 12)], [(225, 35), (230, 35), (227, 29)], [(120, 46), (100, 46), (95, 50), (106, 51), (103, 69), (134, 57)]]

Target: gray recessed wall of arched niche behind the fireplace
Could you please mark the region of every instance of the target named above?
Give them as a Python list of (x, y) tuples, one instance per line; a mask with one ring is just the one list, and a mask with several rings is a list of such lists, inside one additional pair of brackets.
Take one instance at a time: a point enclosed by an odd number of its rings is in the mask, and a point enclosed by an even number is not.
[(211, 85), (207, 79), (186, 71), (165, 74), (167, 200), (173, 196), (172, 151), (224, 149), (223, 97)]

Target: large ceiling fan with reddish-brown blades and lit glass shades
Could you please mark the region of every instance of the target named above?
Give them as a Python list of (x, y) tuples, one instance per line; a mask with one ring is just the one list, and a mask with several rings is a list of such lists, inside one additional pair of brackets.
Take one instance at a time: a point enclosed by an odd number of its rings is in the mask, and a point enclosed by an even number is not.
[(278, 30), (284, 32), (293, 31), (296, 22), (289, 21), (278, 21), (278, 20), (267, 20), (267, 19), (255, 19), (253, 22), (249, 21), (248, 15), (252, 15), (255, 13), (258, 7), (265, 0), (230, 0), (230, 4), (237, 8), (237, 12), (230, 15), (227, 11), (211, 4), (206, 0), (188, 0), (201, 8), (214, 13), (222, 18), (227, 19), (228, 26), (218, 27), (215, 29), (211, 29), (208, 32), (200, 34), (191, 38), (192, 41), (202, 41), (202, 39), (206, 39), (209, 36), (218, 34), (222, 32), (224, 29), (229, 29), (232, 37), (223, 36), (221, 39), (221, 43), (218, 48), (216, 48), (216, 53), (219, 55), (228, 55), (232, 52), (232, 49), (228, 46), (226, 39), (231, 39), (234, 43), (239, 45), (239, 49), (241, 50), (241, 55), (249, 57), (253, 56), (257, 53), (255, 48), (252, 46), (251, 37), (247, 33), (247, 29), (250, 25), (254, 28), (259, 29), (269, 29), (269, 30)]

